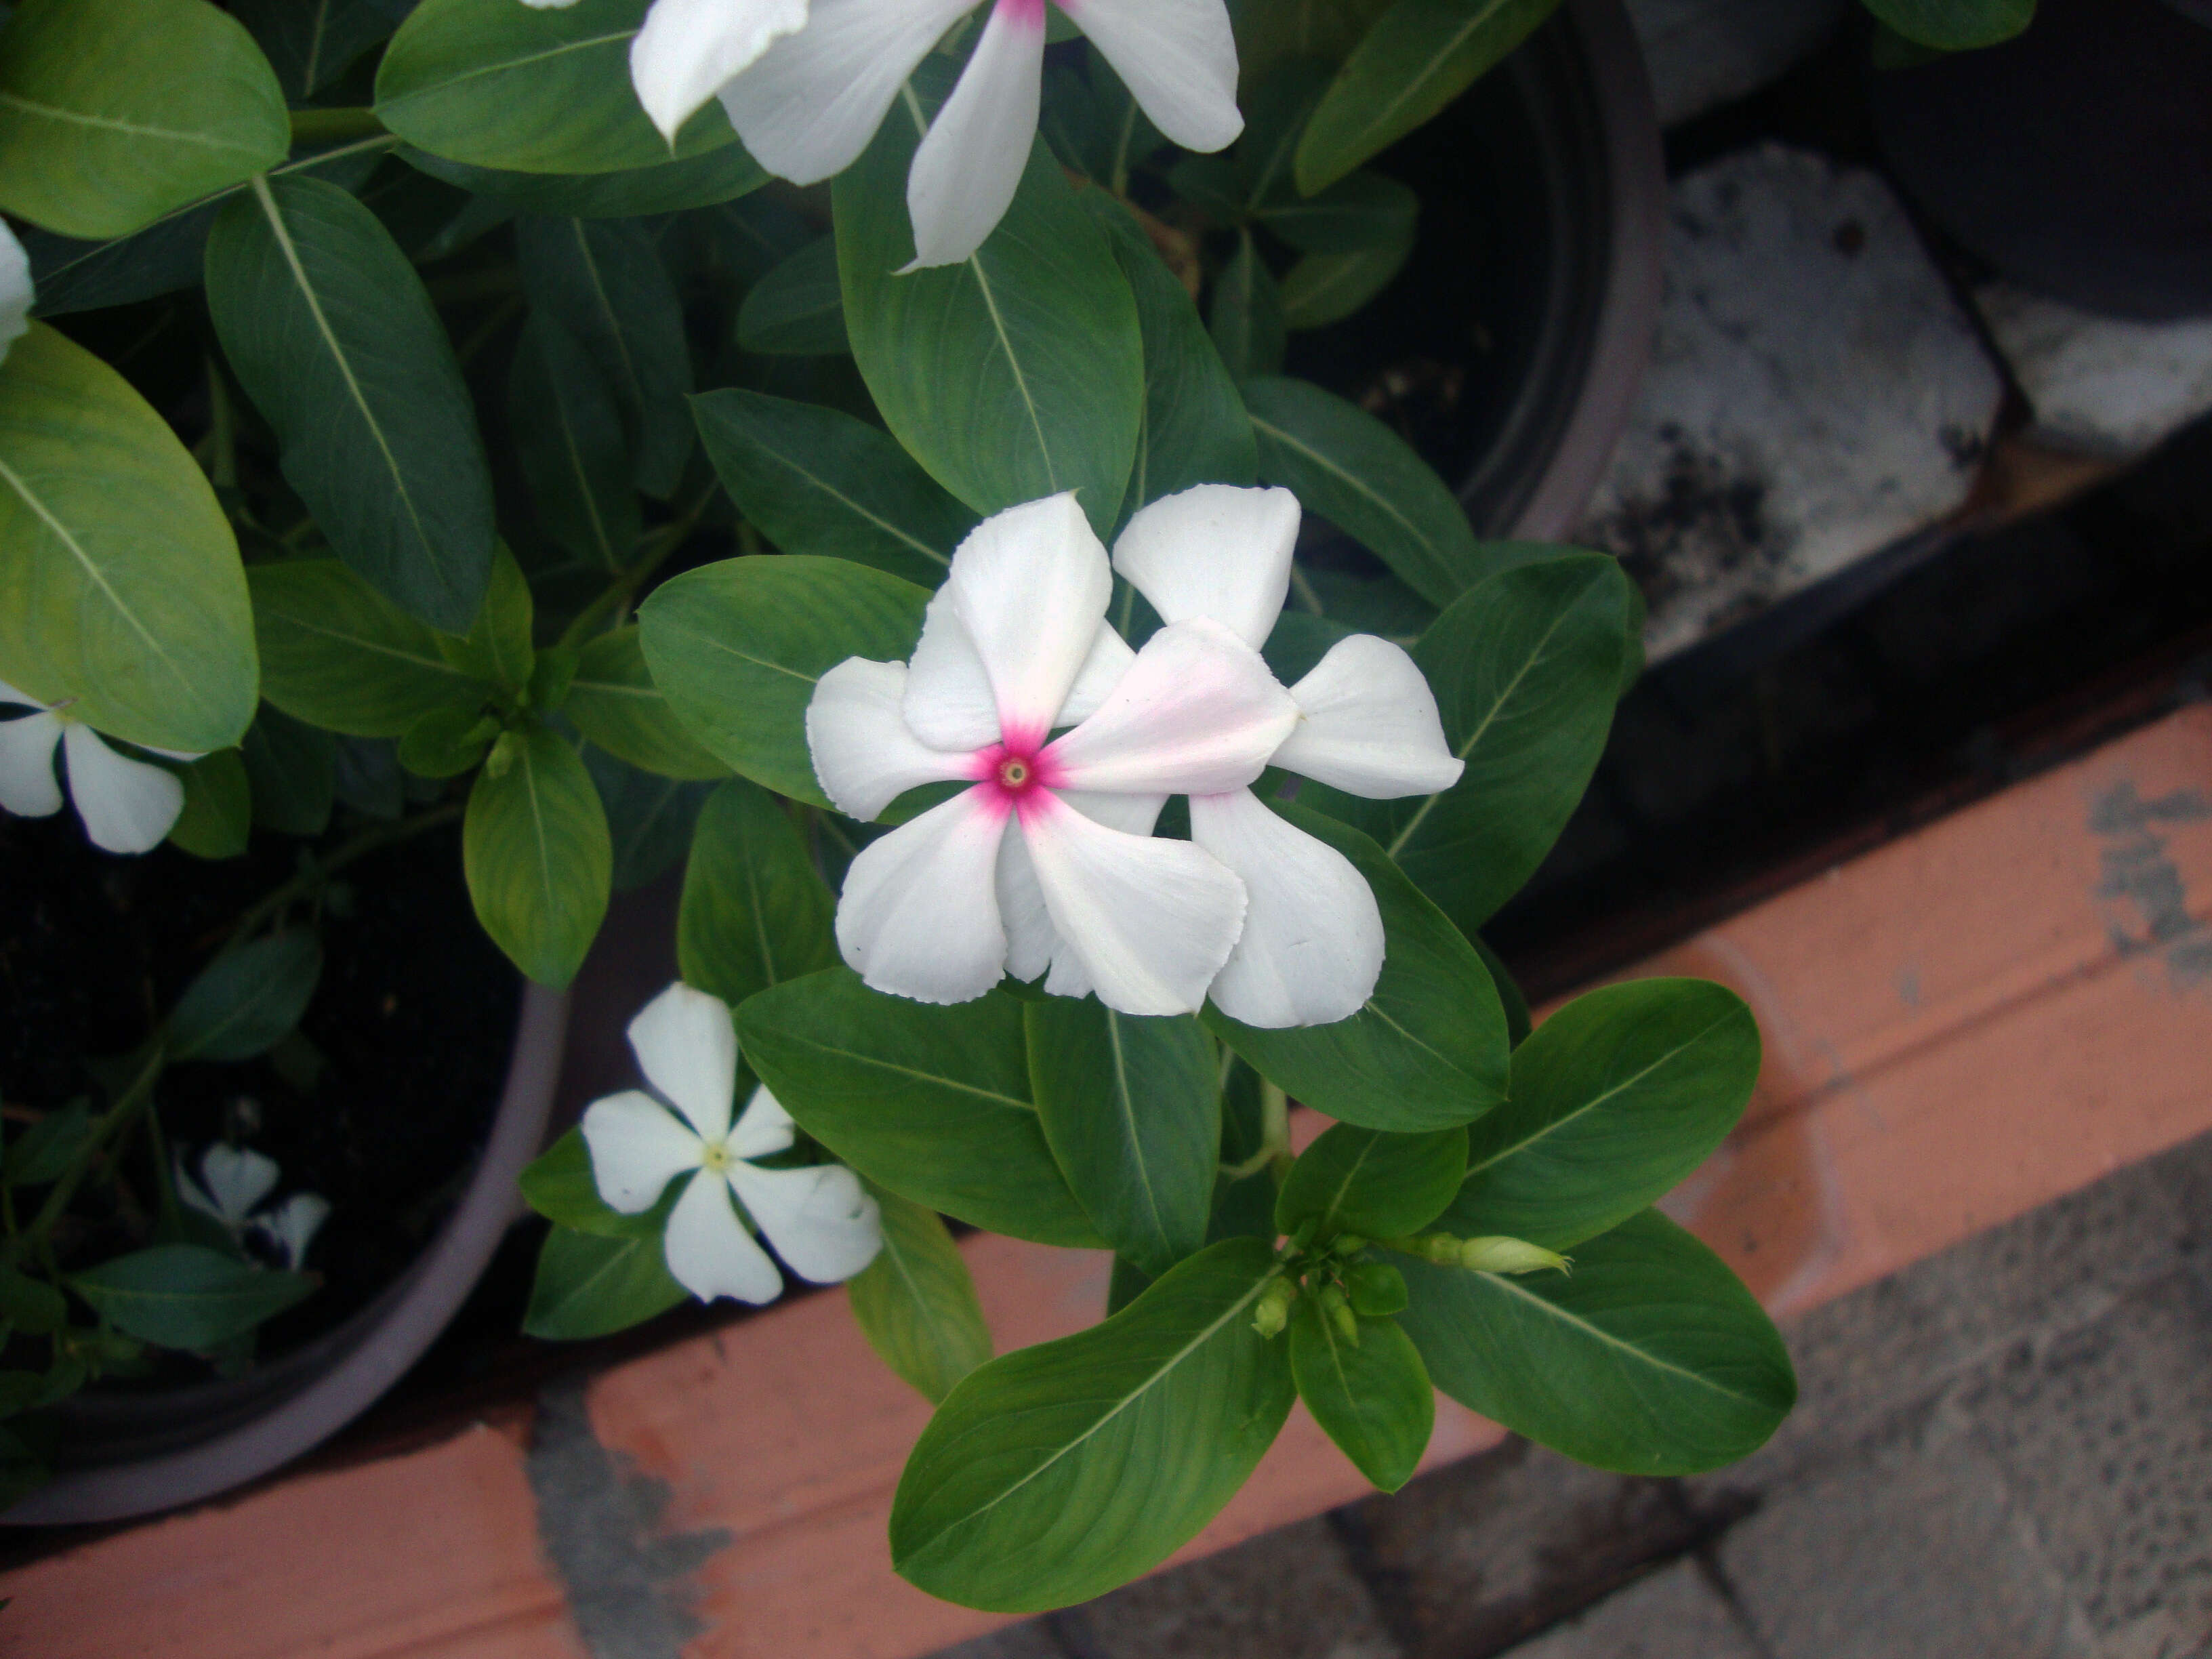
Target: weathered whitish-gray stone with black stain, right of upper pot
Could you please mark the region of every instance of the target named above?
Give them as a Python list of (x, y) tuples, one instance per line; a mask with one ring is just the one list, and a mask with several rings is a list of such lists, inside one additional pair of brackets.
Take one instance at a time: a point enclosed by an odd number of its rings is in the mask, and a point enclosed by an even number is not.
[(1728, 155), (1674, 186), (1652, 367), (1577, 540), (1628, 560), (1668, 657), (1951, 513), (2000, 396), (1889, 186)]

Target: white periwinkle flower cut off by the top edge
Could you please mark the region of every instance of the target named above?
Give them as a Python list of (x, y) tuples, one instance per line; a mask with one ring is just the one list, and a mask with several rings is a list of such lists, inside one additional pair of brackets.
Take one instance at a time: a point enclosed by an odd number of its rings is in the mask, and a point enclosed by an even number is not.
[[(852, 166), (907, 75), (978, 2), (655, 0), (630, 42), (630, 80), (670, 144), (719, 95), (763, 168), (818, 184)], [(1037, 131), (1044, 4), (991, 0), (967, 71), (914, 155), (916, 265), (967, 259), (1013, 201)], [(1223, 0), (1057, 4), (1170, 139), (1219, 150), (1243, 131)]]

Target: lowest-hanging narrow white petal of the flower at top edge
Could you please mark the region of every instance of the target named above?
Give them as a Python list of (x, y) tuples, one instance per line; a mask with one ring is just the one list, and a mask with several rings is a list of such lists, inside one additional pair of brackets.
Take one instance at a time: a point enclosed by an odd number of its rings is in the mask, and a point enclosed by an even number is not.
[(998, 0), (907, 173), (914, 263), (958, 265), (1013, 206), (1037, 139), (1044, 0)]

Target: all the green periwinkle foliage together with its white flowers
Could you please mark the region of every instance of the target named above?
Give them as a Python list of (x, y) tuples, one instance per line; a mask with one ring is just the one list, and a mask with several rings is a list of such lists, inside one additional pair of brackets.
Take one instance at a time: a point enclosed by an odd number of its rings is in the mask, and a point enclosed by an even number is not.
[[(641, 1088), (524, 1177), (529, 1329), (849, 1281), (936, 1402), (889, 1548), (940, 1597), (1157, 1566), (1294, 1398), (1383, 1489), (1436, 1389), (1601, 1469), (1761, 1444), (1783, 1345), (1655, 1208), (1747, 1009), (1531, 1031), (1480, 931), (1639, 599), (1283, 374), (1416, 246), (1367, 164), (1551, 7), (22, 0), (0, 807), (296, 869), (9, 1130), (13, 1486), (55, 1400), (314, 1290), (325, 1201), (170, 1146), (164, 1075), (281, 1051), (341, 872), (456, 821), (549, 987), (684, 860)], [(1102, 1323), (993, 1358), (945, 1219), (1110, 1250)]]

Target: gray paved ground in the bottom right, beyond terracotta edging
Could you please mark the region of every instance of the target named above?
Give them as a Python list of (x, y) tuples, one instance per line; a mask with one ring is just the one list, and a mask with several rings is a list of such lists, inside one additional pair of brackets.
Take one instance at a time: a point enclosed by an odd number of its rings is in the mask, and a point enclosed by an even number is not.
[(1787, 1336), (1734, 1469), (1513, 1442), (938, 1659), (2212, 1655), (2212, 1137)]

